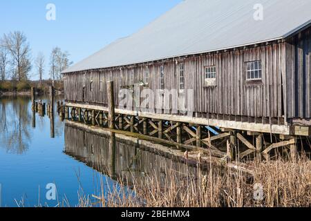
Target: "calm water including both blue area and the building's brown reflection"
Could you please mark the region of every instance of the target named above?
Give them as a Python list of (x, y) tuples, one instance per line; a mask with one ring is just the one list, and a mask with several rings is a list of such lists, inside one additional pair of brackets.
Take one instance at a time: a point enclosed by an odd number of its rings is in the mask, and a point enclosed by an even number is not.
[[(39, 99), (48, 103), (45, 97)], [(85, 126), (62, 122), (56, 111), (51, 138), (49, 117), (36, 113), (34, 118), (28, 97), (0, 98), (0, 117), (2, 206), (17, 206), (21, 200), (23, 206), (56, 206), (64, 198), (76, 206), (81, 191), (97, 194), (101, 182), (104, 193), (117, 186), (111, 177), (131, 180), (156, 172), (164, 180), (167, 169), (196, 174), (195, 167), (150, 151), (140, 140), (98, 135)], [(57, 186), (58, 200), (46, 199), (50, 183)]]

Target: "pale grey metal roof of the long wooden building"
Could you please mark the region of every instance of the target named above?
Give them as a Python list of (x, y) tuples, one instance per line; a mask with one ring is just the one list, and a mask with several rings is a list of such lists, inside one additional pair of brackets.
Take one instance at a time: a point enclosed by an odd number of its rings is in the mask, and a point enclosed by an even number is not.
[[(254, 6), (263, 6), (263, 20)], [(185, 0), (142, 30), (64, 73), (109, 68), (283, 39), (311, 22), (310, 0)]]

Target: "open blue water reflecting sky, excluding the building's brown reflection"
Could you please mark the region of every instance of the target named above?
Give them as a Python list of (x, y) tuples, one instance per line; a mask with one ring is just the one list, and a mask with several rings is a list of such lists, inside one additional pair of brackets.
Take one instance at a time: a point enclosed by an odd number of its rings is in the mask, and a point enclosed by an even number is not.
[[(48, 103), (44, 97), (41, 98)], [(57, 186), (59, 201), (67, 198), (70, 206), (78, 203), (78, 192), (97, 193), (99, 173), (66, 155), (64, 122), (55, 114), (55, 138), (50, 138), (50, 119), (35, 116), (32, 127), (31, 101), (28, 97), (0, 98), (0, 184), (1, 205), (25, 206), (39, 203), (55, 206), (46, 200), (46, 185)], [(73, 137), (75, 139), (75, 137)], [(104, 183), (113, 181), (103, 176)]]

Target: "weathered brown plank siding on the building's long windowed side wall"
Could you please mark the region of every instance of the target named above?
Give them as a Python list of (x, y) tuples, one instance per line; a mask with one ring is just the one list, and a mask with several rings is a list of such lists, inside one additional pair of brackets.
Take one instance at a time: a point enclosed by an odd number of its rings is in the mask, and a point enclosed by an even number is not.
[[(149, 88), (160, 88), (160, 66), (164, 66), (166, 89), (179, 88), (180, 62), (185, 64), (185, 91), (194, 90), (195, 113), (232, 115), (245, 117), (285, 117), (283, 89), (285, 89), (286, 44), (270, 44), (256, 48), (233, 50), (211, 55), (197, 55), (179, 60), (149, 64)], [(262, 61), (261, 84), (247, 84), (247, 61)], [(216, 86), (205, 87), (205, 66), (216, 66)], [(83, 102), (83, 81), (86, 93), (84, 102), (106, 106), (106, 84), (115, 82), (115, 103), (121, 86), (131, 86), (143, 81), (143, 65), (67, 74), (65, 79), (66, 100)], [(85, 75), (84, 75), (85, 74)], [(100, 79), (103, 82), (100, 91)], [(93, 92), (91, 81), (93, 80)], [(310, 79), (309, 79), (310, 80)], [(257, 82), (258, 83), (258, 82)], [(284, 87), (284, 88), (283, 88)]]

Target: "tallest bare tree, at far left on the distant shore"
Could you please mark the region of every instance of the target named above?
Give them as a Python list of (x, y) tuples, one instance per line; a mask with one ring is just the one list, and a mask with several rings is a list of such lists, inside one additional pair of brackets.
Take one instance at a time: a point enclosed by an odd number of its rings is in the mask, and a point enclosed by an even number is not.
[(31, 70), (30, 46), (23, 32), (10, 32), (4, 35), (3, 44), (12, 59), (13, 79), (26, 80)]

